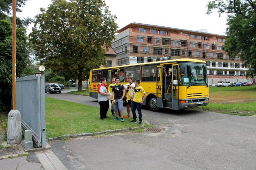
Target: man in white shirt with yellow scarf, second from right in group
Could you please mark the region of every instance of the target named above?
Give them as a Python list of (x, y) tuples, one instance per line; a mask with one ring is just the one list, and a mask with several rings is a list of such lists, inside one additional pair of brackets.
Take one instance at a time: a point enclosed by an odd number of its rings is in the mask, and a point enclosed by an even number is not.
[(126, 109), (127, 109), (127, 116), (125, 116), (125, 118), (129, 118), (130, 117), (130, 106), (131, 106), (131, 98), (132, 98), (132, 94), (134, 91), (134, 87), (135, 84), (132, 82), (132, 77), (128, 76), (127, 78), (128, 83), (127, 85), (127, 89), (126, 89)]

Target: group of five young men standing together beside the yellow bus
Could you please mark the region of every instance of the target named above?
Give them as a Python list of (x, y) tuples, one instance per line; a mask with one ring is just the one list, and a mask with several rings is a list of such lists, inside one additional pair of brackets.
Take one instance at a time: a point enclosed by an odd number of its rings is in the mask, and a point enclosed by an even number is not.
[[(140, 86), (140, 81), (135, 80), (132, 82), (132, 77), (128, 76), (128, 83), (124, 86), (120, 84), (120, 79), (118, 77), (112, 78), (112, 83), (106, 89), (106, 78), (101, 79), (101, 83), (98, 85), (98, 102), (100, 104), (100, 118), (108, 118), (106, 113), (109, 109), (109, 104), (111, 104), (111, 113), (116, 116), (115, 121), (119, 120), (121, 117), (121, 122), (124, 122), (124, 111), (123, 111), (123, 100), (126, 96), (126, 108), (127, 115), (125, 118), (130, 117), (130, 108), (132, 110), (133, 123), (137, 123), (136, 109), (139, 115), (139, 123), (142, 124), (142, 114), (141, 105), (146, 99), (146, 92)], [(110, 100), (110, 102), (108, 101)], [(115, 113), (114, 113), (115, 112)]]

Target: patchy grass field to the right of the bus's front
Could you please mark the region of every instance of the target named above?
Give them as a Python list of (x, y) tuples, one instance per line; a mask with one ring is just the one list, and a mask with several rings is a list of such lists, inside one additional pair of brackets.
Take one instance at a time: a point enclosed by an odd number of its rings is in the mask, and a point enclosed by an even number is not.
[(210, 87), (208, 106), (193, 110), (208, 110), (230, 115), (256, 115), (256, 86)]

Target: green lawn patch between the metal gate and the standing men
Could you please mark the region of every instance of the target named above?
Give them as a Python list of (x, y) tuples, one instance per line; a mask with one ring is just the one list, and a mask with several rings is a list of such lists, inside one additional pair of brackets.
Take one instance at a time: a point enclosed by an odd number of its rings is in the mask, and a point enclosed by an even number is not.
[(107, 113), (110, 118), (101, 120), (98, 107), (75, 102), (46, 97), (45, 106), (47, 138), (138, 126), (130, 122), (131, 118), (125, 119), (124, 123), (114, 121), (110, 111)]

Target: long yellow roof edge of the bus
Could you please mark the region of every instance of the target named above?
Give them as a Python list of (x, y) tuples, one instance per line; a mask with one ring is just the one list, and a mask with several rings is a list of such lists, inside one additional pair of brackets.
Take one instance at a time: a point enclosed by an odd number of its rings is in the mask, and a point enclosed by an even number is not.
[(91, 71), (101, 70), (101, 69), (124, 68), (124, 67), (131, 67), (131, 66), (140, 66), (140, 65), (172, 63), (172, 62), (206, 63), (205, 61), (200, 60), (200, 59), (187, 59), (187, 58), (184, 58), (184, 59), (169, 59), (169, 60), (155, 61), (155, 62), (149, 62), (149, 63), (137, 63), (137, 64), (129, 64), (129, 65), (119, 65), (119, 66), (115, 66), (115, 67), (102, 67), (102, 68), (93, 69)]

